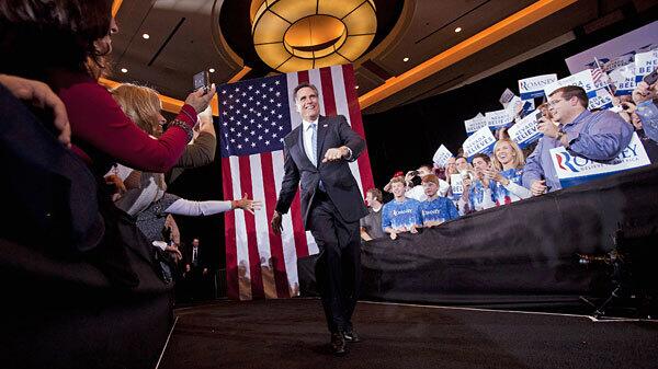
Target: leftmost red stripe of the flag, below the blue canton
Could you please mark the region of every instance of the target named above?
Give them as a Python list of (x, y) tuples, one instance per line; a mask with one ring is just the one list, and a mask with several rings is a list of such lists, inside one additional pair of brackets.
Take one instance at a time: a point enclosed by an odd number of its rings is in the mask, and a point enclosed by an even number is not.
[[(232, 182), (230, 176), (230, 161), (222, 158), (222, 186), (224, 198), (234, 198)], [(224, 237), (226, 244), (226, 293), (229, 299), (240, 299), (238, 282), (238, 250), (236, 246), (236, 217), (232, 211), (224, 214)]]

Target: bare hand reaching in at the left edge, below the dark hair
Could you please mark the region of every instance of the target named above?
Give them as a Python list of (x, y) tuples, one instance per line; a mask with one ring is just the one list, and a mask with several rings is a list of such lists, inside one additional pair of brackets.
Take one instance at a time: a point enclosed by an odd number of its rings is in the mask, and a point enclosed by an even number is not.
[(66, 115), (66, 107), (47, 84), (7, 74), (0, 74), (0, 83), (16, 99), (26, 100), (41, 108), (52, 108), (55, 117), (53, 124), (59, 130), (57, 139), (67, 148), (71, 147), (71, 127)]

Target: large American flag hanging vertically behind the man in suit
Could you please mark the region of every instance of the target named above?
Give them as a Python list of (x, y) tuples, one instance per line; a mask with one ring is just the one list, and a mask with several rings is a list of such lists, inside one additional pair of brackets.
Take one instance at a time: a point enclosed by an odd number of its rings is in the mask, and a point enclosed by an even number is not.
[[(270, 220), (283, 180), (283, 138), (302, 124), (293, 89), (315, 84), (320, 114), (344, 115), (365, 138), (351, 65), (314, 69), (224, 84), (219, 94), (219, 142), (224, 198), (243, 194), (263, 201), (252, 216), (226, 212), (226, 270), (231, 299), (274, 299), (297, 296), (297, 258), (316, 254), (318, 246), (304, 231), (299, 194), (283, 217), (276, 235)], [(350, 164), (361, 193), (374, 186), (367, 152)]]

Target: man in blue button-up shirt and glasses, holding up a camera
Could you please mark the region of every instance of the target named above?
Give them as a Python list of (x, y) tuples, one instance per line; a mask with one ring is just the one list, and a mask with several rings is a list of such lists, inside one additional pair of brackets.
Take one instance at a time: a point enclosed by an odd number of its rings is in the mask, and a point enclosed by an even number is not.
[(574, 155), (606, 162), (614, 159), (631, 142), (633, 127), (610, 111), (590, 112), (582, 88), (566, 85), (548, 96), (553, 120), (543, 117), (537, 129), (544, 137), (527, 157), (523, 186), (533, 196), (560, 189), (551, 149), (564, 146)]

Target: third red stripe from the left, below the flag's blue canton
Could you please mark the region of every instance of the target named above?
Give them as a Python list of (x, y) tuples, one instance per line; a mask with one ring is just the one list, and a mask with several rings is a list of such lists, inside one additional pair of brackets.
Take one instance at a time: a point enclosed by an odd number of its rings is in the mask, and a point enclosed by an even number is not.
[[(263, 191), (265, 193), (265, 214), (274, 212), (276, 208), (276, 187), (274, 185), (274, 165), (272, 164), (272, 153), (261, 153), (261, 169), (263, 172)], [(285, 272), (285, 258), (283, 256), (283, 242), (281, 235), (274, 234), (272, 228), (269, 228), (270, 253), (272, 255), (272, 267), (274, 272), (274, 282), (276, 284), (276, 297), (291, 297), (291, 289)]]

